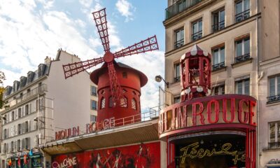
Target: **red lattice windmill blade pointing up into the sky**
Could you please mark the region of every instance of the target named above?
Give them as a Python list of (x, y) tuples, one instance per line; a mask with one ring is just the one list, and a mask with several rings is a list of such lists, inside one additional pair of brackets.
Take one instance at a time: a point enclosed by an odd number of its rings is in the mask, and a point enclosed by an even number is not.
[(110, 51), (106, 8), (92, 13), (105, 52)]

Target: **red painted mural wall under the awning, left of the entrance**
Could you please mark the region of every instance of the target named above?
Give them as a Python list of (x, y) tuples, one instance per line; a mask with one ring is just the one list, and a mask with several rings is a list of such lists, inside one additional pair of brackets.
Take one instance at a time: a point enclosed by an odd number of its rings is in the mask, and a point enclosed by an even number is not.
[(160, 142), (56, 155), (52, 167), (160, 167)]

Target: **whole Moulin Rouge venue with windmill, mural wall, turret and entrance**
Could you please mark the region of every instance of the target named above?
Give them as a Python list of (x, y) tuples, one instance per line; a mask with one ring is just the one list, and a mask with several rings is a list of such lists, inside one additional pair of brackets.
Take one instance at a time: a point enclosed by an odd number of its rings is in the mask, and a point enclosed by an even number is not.
[[(64, 66), (65, 77), (104, 63), (90, 75), (98, 85), (97, 123), (55, 133), (41, 145), (45, 167), (255, 167), (256, 100), (211, 96), (211, 55), (199, 46), (179, 62), (181, 101), (141, 113), (144, 73), (114, 59), (157, 50), (155, 36), (110, 52), (105, 10), (94, 14), (104, 57)], [(85, 127), (85, 129), (81, 129)]]

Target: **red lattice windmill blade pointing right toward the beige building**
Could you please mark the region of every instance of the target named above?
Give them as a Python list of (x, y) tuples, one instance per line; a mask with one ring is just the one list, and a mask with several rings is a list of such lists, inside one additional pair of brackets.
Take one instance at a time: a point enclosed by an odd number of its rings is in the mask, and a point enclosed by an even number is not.
[(114, 53), (114, 57), (125, 57), (127, 55), (134, 55), (152, 50), (158, 50), (157, 36), (152, 36), (144, 41), (140, 41), (134, 45), (131, 45), (123, 50)]

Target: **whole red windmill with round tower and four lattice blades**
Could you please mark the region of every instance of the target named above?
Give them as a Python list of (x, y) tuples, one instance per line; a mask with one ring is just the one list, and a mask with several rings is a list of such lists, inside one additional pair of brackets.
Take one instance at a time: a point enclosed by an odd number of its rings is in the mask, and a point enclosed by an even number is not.
[(90, 69), (97, 64), (104, 63), (100, 69), (90, 74), (92, 82), (98, 85), (97, 122), (111, 117), (118, 119), (137, 115), (140, 113), (140, 90), (142, 86), (146, 85), (148, 79), (141, 71), (132, 69), (125, 64), (117, 63), (115, 59), (158, 50), (157, 38), (152, 36), (112, 53), (109, 45), (105, 8), (92, 13), (92, 15), (104, 47), (104, 56), (64, 65), (65, 78)]

